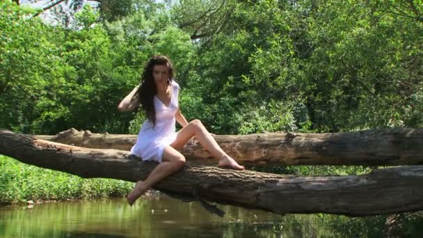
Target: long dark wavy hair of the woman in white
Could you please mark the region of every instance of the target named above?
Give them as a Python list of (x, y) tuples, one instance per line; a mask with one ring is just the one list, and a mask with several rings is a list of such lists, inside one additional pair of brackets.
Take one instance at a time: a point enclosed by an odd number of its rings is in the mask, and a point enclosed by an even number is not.
[(141, 108), (145, 111), (145, 116), (156, 125), (156, 110), (154, 109), (154, 95), (157, 94), (156, 82), (153, 77), (154, 65), (167, 65), (169, 68), (168, 84), (172, 82), (174, 76), (173, 64), (167, 56), (152, 56), (145, 64), (143, 75), (141, 76), (141, 86), (136, 91), (140, 98)]

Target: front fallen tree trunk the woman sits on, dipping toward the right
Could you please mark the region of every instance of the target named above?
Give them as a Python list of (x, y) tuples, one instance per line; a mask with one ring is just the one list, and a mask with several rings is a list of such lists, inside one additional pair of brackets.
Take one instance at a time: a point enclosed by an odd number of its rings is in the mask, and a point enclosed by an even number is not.
[[(26, 164), (81, 177), (143, 180), (157, 165), (129, 152), (87, 149), (0, 131), (0, 154)], [(423, 166), (375, 170), (367, 175), (297, 177), (186, 164), (154, 189), (277, 214), (349, 216), (423, 209)]]

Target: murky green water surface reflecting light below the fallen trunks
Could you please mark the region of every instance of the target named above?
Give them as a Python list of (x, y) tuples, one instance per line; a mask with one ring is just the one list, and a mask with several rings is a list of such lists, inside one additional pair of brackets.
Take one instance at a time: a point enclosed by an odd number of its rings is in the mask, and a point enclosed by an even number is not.
[[(360, 237), (367, 233), (363, 226), (351, 233), (351, 221), (365, 220), (344, 216), (279, 216), (232, 206), (218, 208), (225, 212), (223, 217), (199, 202), (183, 203), (164, 195), (137, 200), (133, 207), (125, 198), (0, 206), (0, 237)], [(383, 236), (383, 227), (375, 224), (383, 225), (384, 218), (372, 219), (375, 223), (369, 223), (368, 229)]]

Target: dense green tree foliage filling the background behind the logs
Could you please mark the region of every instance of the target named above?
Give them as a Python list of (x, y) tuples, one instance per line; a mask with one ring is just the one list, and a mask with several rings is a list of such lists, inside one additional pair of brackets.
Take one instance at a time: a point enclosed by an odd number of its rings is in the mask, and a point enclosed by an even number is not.
[(419, 1), (183, 3), (86, 5), (69, 29), (3, 1), (0, 127), (136, 133), (142, 113), (116, 105), (153, 54), (177, 66), (186, 118), (214, 133), (422, 127)]

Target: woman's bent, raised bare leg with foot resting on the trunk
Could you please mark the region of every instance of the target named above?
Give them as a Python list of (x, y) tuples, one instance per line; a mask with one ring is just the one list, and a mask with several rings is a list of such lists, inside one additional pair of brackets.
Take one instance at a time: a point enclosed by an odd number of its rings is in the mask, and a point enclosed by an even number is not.
[(181, 150), (186, 142), (188, 142), (193, 136), (200, 141), (200, 144), (206, 150), (219, 160), (218, 166), (232, 167), (239, 170), (244, 169), (244, 166), (240, 166), (237, 161), (232, 159), (232, 157), (222, 150), (222, 148), (214, 140), (213, 136), (198, 119), (192, 120), (188, 123), (188, 125), (186, 125), (186, 127), (180, 129), (179, 132), (177, 132), (176, 140), (170, 145), (177, 150)]

